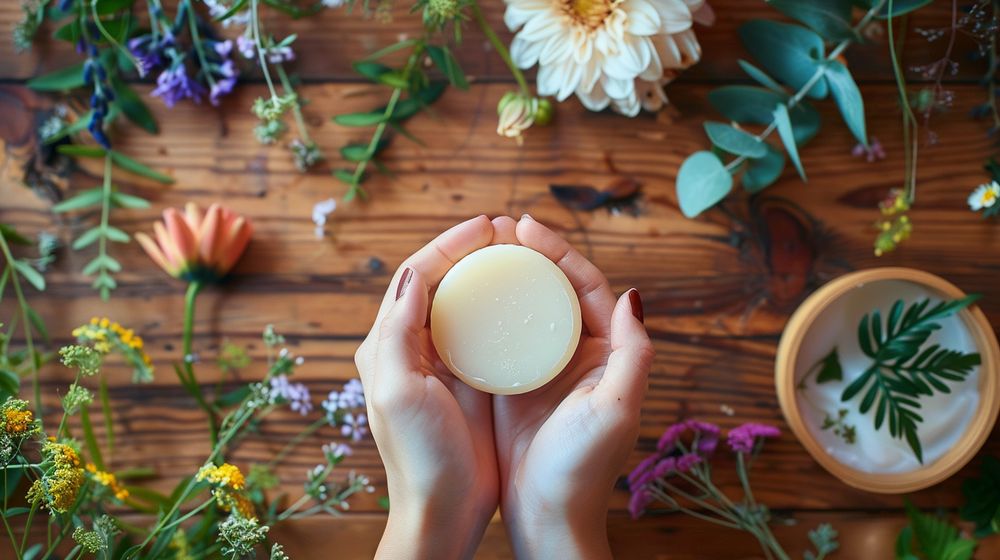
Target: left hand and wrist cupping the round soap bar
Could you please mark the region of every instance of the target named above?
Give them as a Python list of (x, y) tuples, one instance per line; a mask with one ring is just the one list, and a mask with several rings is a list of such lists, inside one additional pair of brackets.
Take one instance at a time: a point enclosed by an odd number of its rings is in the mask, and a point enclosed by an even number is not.
[(493, 238), (493, 223), (480, 216), (407, 259), (355, 355), (391, 499), (380, 558), (471, 557), (496, 511), (490, 395), (448, 371), (427, 328), (430, 292)]

